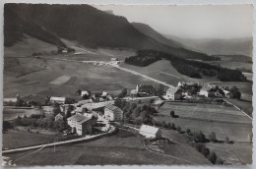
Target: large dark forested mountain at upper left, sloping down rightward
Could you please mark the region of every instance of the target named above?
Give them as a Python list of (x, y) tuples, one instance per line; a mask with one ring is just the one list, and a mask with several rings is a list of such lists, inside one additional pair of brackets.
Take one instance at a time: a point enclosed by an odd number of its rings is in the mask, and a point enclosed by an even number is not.
[(132, 25), (124, 17), (89, 5), (5, 4), (4, 9), (5, 46), (29, 34), (62, 46), (65, 44), (60, 38), (66, 38), (92, 48), (155, 49), (182, 58), (213, 60), (204, 53), (183, 48), (153, 28)]

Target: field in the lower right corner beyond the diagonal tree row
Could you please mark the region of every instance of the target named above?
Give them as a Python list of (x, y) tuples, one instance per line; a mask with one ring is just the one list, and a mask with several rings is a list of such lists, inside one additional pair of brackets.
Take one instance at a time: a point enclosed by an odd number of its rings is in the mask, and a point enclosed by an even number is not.
[(224, 159), (227, 165), (246, 165), (252, 163), (251, 143), (207, 143), (210, 150), (216, 152), (217, 156)]

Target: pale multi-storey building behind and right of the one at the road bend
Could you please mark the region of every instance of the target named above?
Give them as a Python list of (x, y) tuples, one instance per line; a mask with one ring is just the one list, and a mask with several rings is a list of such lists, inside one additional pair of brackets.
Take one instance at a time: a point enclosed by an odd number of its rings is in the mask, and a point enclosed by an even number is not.
[(112, 104), (108, 104), (104, 108), (104, 117), (108, 121), (122, 121), (123, 111)]

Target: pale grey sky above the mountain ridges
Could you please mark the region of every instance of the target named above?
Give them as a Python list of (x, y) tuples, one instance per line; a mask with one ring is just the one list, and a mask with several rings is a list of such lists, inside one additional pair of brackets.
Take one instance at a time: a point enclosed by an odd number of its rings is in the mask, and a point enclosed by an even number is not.
[(144, 23), (160, 33), (182, 38), (251, 37), (252, 5), (94, 5), (112, 10), (132, 23)]

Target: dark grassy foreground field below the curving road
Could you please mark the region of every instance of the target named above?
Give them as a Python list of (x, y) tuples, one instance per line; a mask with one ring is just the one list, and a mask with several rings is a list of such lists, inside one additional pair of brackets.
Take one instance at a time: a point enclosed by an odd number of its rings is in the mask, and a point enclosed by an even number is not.
[[(171, 145), (171, 144), (170, 144)], [(171, 145), (172, 146), (172, 145)], [(181, 146), (181, 145), (175, 145)], [(177, 147), (174, 147), (177, 148)], [(192, 148), (192, 147), (191, 147)], [(210, 164), (206, 158), (191, 157), (198, 164)], [(17, 159), (32, 151), (7, 154), (11, 159)], [(188, 157), (189, 152), (184, 151)], [(182, 153), (180, 153), (182, 154)], [(31, 160), (32, 157), (32, 160)], [(42, 160), (43, 157), (43, 160)], [(197, 158), (198, 157), (198, 158)], [(142, 142), (132, 133), (119, 131), (116, 135), (100, 140), (56, 146), (42, 149), (32, 156), (15, 161), (17, 165), (104, 165), (104, 164), (185, 164), (170, 156), (152, 152), (143, 146)]]

